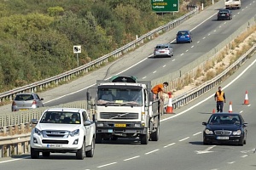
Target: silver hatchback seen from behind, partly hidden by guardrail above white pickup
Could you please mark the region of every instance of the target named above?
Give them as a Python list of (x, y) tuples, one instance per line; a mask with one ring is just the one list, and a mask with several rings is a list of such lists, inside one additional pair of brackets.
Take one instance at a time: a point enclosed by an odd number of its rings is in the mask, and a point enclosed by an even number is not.
[(44, 99), (40, 99), (38, 94), (34, 93), (17, 94), (12, 103), (12, 111), (25, 111), (44, 107), (42, 100)]

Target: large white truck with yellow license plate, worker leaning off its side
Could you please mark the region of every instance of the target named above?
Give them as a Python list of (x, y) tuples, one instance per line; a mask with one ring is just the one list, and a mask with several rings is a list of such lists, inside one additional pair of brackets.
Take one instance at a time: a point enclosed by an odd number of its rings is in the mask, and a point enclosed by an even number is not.
[[(88, 97), (92, 99), (90, 94)], [(100, 80), (94, 99), (96, 143), (139, 138), (141, 144), (148, 144), (148, 140), (159, 139), (160, 102), (153, 99), (151, 82), (122, 76)]]

